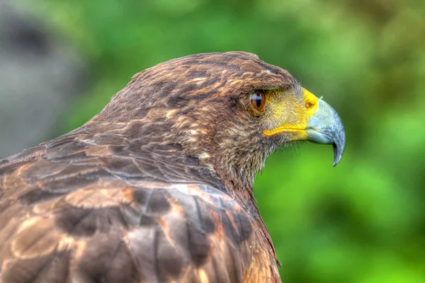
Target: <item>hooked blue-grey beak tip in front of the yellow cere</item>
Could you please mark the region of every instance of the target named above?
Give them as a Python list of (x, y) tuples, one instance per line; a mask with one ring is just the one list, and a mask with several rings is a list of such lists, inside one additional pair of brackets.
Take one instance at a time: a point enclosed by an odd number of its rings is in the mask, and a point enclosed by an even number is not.
[(317, 100), (317, 110), (307, 124), (307, 141), (334, 146), (334, 167), (341, 160), (345, 147), (345, 132), (338, 113), (323, 100)]

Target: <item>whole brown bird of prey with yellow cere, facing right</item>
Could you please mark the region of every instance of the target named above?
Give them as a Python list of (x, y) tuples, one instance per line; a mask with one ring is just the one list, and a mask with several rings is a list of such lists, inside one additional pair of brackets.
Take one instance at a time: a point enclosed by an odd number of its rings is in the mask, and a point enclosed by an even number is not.
[(252, 185), (339, 115), (247, 52), (133, 76), (89, 122), (0, 161), (0, 282), (280, 282)]

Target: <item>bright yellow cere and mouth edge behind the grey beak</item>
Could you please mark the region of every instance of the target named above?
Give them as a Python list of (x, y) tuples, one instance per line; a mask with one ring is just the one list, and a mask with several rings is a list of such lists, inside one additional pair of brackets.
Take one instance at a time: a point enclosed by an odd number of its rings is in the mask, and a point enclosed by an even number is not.
[(301, 140), (307, 138), (307, 133), (305, 129), (307, 128), (308, 119), (314, 115), (317, 111), (318, 99), (314, 94), (307, 91), (307, 89), (302, 88), (302, 98), (304, 100), (303, 107), (300, 109), (294, 109), (295, 115), (297, 117), (297, 122), (286, 122), (279, 127), (274, 129), (265, 129), (263, 134), (267, 137), (271, 137), (275, 134), (281, 132), (293, 132), (296, 135), (293, 137), (293, 140)]

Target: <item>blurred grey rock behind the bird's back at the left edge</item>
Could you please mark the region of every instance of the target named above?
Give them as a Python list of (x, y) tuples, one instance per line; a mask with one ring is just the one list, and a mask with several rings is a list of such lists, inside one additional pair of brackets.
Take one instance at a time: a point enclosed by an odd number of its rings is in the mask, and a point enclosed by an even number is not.
[(85, 73), (75, 50), (0, 0), (0, 158), (51, 138)]

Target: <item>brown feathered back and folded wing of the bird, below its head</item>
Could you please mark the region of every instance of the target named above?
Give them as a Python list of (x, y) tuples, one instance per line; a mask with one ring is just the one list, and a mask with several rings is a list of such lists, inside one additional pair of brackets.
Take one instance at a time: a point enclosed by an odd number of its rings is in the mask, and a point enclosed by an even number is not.
[(173, 146), (128, 154), (130, 146), (79, 134), (0, 161), (3, 282), (254, 282), (276, 274), (249, 212), (200, 182), (196, 164)]

